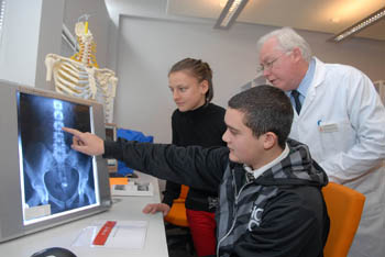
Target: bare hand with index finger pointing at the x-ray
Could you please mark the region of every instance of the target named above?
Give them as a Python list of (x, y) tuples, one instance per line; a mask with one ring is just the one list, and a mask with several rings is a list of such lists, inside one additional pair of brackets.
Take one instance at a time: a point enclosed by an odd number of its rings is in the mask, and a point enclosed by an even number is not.
[(89, 132), (80, 132), (69, 127), (63, 127), (63, 131), (73, 134), (73, 149), (86, 155), (105, 154), (105, 142), (99, 136)]

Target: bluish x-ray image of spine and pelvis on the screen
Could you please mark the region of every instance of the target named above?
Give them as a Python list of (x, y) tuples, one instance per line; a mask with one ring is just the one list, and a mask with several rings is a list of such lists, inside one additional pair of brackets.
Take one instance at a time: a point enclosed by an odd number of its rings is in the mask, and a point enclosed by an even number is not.
[(22, 92), (18, 98), (24, 221), (98, 203), (92, 158), (73, 150), (72, 135), (62, 131), (91, 132), (91, 108)]

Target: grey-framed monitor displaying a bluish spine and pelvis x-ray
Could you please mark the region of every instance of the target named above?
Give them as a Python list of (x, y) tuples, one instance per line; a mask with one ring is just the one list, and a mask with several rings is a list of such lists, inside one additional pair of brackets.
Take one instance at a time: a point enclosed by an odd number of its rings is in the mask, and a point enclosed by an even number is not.
[(0, 81), (0, 242), (106, 211), (107, 161), (63, 126), (105, 138), (102, 105)]

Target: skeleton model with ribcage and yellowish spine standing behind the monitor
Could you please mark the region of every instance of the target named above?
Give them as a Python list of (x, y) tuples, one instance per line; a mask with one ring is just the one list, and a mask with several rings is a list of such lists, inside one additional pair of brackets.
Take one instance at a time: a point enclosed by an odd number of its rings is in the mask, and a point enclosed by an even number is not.
[(105, 122), (112, 123), (113, 99), (118, 78), (107, 68), (99, 69), (96, 62), (96, 44), (88, 22), (78, 22), (75, 33), (79, 44), (79, 52), (70, 58), (55, 54), (45, 57), (47, 68), (46, 80), (54, 75), (57, 92), (85, 99), (95, 99), (105, 107)]

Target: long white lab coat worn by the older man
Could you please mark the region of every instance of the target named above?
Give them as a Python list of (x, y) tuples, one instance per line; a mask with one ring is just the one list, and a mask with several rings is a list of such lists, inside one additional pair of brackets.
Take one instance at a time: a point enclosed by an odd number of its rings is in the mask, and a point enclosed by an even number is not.
[[(365, 194), (350, 257), (385, 256), (385, 109), (360, 70), (316, 59), (316, 70), (290, 137), (336, 181)], [(323, 132), (321, 132), (321, 130)]]

